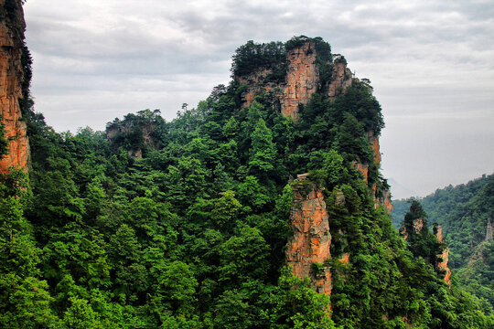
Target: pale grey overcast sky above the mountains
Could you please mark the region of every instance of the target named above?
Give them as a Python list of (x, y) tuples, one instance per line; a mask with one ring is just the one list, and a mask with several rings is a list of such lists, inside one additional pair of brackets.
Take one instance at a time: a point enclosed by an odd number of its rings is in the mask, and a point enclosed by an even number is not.
[(381, 102), (394, 198), (494, 172), (491, 0), (27, 0), (35, 110), (58, 132), (183, 103), (230, 80), (248, 40), (323, 37)]

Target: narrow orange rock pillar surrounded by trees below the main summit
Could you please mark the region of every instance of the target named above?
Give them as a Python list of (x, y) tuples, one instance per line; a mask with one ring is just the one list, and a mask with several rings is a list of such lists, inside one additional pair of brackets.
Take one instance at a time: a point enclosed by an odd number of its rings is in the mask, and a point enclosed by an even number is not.
[[(306, 182), (306, 181), (305, 181)], [(286, 246), (286, 260), (300, 278), (308, 277), (317, 292), (331, 293), (331, 233), (322, 191), (312, 184), (295, 184), (290, 223), (294, 236)]]

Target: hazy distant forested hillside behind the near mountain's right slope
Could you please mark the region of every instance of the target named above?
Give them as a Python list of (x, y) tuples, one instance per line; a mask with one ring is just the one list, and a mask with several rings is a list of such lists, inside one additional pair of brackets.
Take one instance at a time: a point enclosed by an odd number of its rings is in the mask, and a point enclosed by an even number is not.
[[(494, 222), (494, 175), (483, 175), (467, 184), (437, 189), (420, 199), (429, 223), (444, 228), (450, 248), (449, 266), (468, 292), (494, 305), (494, 241), (488, 236)], [(393, 201), (393, 223), (400, 226), (410, 204)]]

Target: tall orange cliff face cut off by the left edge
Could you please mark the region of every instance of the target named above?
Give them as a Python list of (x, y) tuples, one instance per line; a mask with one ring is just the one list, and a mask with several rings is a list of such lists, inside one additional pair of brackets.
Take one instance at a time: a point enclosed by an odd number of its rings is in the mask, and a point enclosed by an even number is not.
[(9, 140), (8, 154), (0, 160), (0, 173), (9, 166), (25, 168), (29, 158), (27, 125), (19, 99), (24, 79), (21, 62), (26, 23), (18, 0), (0, 0), (0, 116)]

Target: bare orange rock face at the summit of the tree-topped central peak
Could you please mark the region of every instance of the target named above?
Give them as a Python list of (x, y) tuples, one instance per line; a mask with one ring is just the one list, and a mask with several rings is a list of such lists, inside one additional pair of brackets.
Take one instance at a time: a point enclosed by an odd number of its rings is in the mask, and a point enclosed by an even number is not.
[[(317, 51), (314, 42), (307, 41), (298, 48), (287, 51), (287, 70), (285, 82), (268, 81), (271, 69), (258, 69), (252, 74), (234, 77), (237, 82), (247, 83), (248, 88), (243, 94), (243, 106), (251, 105), (256, 94), (267, 91), (273, 92), (279, 100), (283, 115), (296, 119), (298, 106), (305, 105), (310, 97), (320, 87), (319, 69), (316, 64)], [(328, 85), (328, 96), (334, 100), (349, 87), (353, 80), (351, 71), (347, 69), (347, 61), (341, 56), (335, 56), (333, 78)]]

